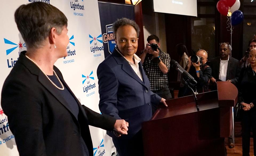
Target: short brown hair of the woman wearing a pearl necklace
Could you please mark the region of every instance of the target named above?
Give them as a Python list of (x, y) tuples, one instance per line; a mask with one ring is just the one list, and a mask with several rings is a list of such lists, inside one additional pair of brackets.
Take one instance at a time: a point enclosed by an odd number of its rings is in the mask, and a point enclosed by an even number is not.
[(15, 22), (28, 48), (38, 48), (49, 36), (51, 28), (61, 33), (63, 26), (67, 26), (67, 18), (56, 7), (33, 2), (21, 5), (14, 13)]

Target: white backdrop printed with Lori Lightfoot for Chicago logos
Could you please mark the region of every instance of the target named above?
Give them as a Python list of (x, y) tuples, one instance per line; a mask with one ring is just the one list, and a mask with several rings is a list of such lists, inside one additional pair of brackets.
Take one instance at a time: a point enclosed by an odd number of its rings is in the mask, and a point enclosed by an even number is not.
[[(99, 63), (105, 57), (97, 0), (5, 1), (5, 5), (0, 6), (2, 21), (0, 26), (0, 89), (2, 90), (3, 83), (18, 60), (20, 52), (26, 50), (26, 44), (14, 21), (14, 12), (20, 5), (35, 1), (49, 3), (66, 15), (68, 19), (68, 36), (70, 38), (70, 42), (67, 45), (68, 56), (60, 58), (55, 63), (55, 66), (61, 70), (65, 81), (81, 104), (100, 113), (96, 71)], [(33, 86), (31, 87), (33, 88)], [(116, 151), (112, 139), (106, 135), (105, 130), (90, 127), (90, 131), (95, 156), (110, 156), (112, 152)], [(1, 106), (0, 151), (2, 156), (19, 155), (15, 144), (15, 136), (9, 129), (8, 118)]]

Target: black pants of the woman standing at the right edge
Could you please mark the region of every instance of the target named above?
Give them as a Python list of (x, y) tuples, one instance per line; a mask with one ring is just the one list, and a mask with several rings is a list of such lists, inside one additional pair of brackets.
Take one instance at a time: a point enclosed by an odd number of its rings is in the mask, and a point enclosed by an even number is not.
[(256, 154), (256, 109), (242, 112), (242, 149), (243, 156), (250, 156), (250, 133), (253, 129), (253, 151)]

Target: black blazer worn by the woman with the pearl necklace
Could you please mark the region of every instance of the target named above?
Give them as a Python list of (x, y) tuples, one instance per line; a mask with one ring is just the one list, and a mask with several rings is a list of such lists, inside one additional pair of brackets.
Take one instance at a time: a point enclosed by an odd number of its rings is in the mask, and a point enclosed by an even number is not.
[(82, 155), (82, 136), (93, 156), (89, 125), (112, 130), (115, 119), (82, 106), (54, 66), (59, 79), (78, 103), (77, 120), (62, 96), (53, 91), (53, 84), (25, 53), (21, 53), (6, 78), (1, 99), (19, 154)]

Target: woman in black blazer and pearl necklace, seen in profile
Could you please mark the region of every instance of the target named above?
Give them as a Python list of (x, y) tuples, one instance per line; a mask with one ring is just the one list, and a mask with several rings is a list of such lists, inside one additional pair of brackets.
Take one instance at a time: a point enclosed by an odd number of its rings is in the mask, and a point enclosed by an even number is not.
[(19, 155), (90, 155), (89, 125), (127, 134), (127, 123), (80, 104), (54, 63), (67, 56), (67, 18), (33, 2), (15, 11), (27, 47), (6, 78), (1, 105)]

